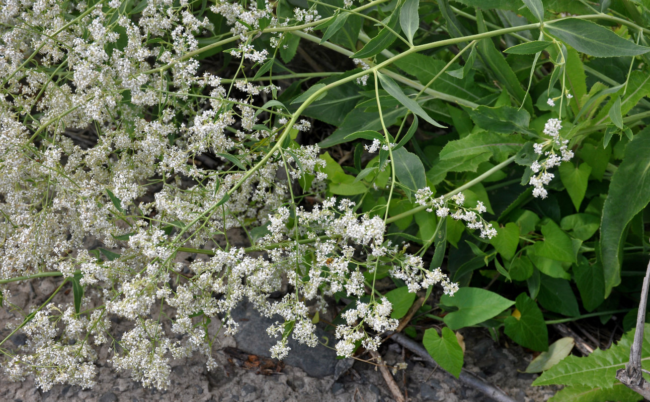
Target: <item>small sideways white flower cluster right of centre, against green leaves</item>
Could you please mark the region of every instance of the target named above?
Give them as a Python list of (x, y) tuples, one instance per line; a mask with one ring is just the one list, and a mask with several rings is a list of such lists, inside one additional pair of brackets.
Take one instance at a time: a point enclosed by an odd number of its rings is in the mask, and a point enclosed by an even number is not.
[(450, 216), (455, 220), (463, 221), (468, 229), (480, 230), (481, 238), (491, 239), (497, 236), (497, 229), (494, 229), (492, 224), (485, 221), (480, 215), (487, 210), (484, 203), (477, 201), (475, 208), (463, 207), (465, 195), (461, 192), (452, 195), (449, 199), (445, 199), (444, 196), (434, 198), (431, 189), (424, 187), (415, 193), (415, 202), (428, 207), (426, 208), (428, 212), (433, 212), (435, 208), (435, 214), (440, 218)]

